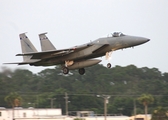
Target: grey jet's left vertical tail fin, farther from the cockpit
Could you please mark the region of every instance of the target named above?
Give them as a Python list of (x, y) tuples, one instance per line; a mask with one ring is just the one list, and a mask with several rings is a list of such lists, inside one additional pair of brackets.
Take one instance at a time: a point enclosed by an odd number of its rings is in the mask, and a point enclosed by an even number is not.
[[(22, 53), (29, 53), (29, 52), (37, 52), (34, 45), (31, 43), (29, 38), (26, 36), (25, 33), (19, 34)], [(23, 56), (24, 61), (30, 60), (31, 56)]]

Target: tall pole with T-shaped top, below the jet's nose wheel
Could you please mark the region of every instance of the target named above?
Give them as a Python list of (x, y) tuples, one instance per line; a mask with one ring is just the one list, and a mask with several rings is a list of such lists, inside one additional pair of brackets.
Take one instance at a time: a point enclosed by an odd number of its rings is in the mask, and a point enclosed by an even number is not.
[(107, 103), (108, 99), (111, 97), (110, 95), (97, 95), (97, 97), (101, 97), (104, 99), (104, 120), (106, 120), (107, 116)]

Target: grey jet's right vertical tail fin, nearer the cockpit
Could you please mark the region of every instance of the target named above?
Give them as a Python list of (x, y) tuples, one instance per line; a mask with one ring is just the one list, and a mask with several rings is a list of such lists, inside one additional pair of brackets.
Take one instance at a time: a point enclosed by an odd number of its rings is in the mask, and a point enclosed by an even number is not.
[(51, 43), (51, 41), (47, 38), (47, 36), (45, 34), (47, 34), (47, 33), (39, 34), (39, 39), (40, 39), (40, 43), (41, 43), (41, 50), (42, 51), (56, 50), (54, 45)]

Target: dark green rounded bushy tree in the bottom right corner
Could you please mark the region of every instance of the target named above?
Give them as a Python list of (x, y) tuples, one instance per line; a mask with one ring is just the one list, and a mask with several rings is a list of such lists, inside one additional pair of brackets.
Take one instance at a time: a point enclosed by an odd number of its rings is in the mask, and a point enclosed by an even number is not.
[(151, 120), (168, 120), (167, 110), (163, 107), (158, 107), (153, 111)]

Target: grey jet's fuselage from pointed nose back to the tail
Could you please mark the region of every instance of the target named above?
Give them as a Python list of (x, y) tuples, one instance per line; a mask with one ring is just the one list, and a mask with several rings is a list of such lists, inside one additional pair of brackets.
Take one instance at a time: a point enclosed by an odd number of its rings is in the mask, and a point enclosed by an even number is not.
[[(143, 37), (135, 37), (135, 36), (119, 36), (119, 37), (104, 37), (99, 38), (95, 41), (90, 43), (75, 46), (89, 46), (83, 50), (72, 52), (68, 55), (63, 55), (61, 57), (52, 57), (46, 60), (39, 61), (34, 63), (35, 66), (49, 66), (49, 65), (56, 65), (56, 64), (64, 64), (65, 61), (83, 61), (86, 59), (92, 59), (96, 57), (101, 57), (106, 54), (106, 52), (115, 51), (118, 49), (124, 49), (128, 47), (134, 47), (145, 42), (149, 41), (147, 38)], [(75, 48), (73, 47), (73, 48)], [(75, 51), (75, 49), (74, 49)]]

